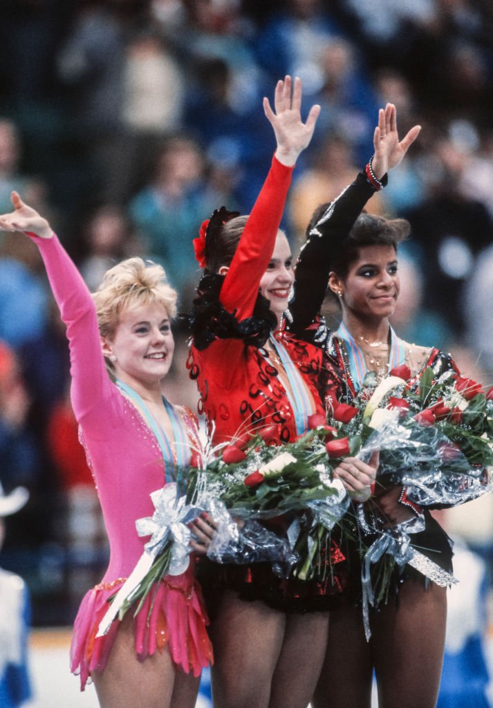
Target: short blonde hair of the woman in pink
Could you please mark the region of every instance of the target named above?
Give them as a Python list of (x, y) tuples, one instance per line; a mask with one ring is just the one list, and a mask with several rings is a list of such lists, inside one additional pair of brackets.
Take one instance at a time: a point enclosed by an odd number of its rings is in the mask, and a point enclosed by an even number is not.
[[(166, 280), (162, 265), (127, 258), (106, 271), (103, 282), (93, 293), (99, 333), (112, 339), (120, 314), (141, 305), (162, 304), (169, 319), (176, 315), (176, 290)], [(108, 362), (111, 366), (111, 362)]]

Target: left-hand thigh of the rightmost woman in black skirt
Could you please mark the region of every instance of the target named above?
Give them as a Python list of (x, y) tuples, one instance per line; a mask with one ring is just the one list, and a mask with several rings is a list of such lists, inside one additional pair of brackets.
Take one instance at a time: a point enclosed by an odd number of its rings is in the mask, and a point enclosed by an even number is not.
[(339, 607), (330, 613), (327, 653), (313, 708), (370, 708), (372, 676), (361, 607)]

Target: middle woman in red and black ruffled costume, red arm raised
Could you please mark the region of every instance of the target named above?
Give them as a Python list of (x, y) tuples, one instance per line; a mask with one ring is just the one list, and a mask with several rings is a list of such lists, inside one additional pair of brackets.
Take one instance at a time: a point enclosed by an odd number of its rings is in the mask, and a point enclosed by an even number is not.
[[(289, 76), (276, 86), (275, 111), (264, 98), (277, 149), (251, 214), (223, 208), (194, 242), (205, 275), (191, 317), (188, 367), (214, 443), (263, 432), (282, 444), (305, 433), (314, 413), (324, 414), (322, 351), (283, 328), (294, 275), (279, 224), (293, 167), (319, 113), (314, 106), (304, 124), (300, 104), (300, 81), (291, 95)], [(350, 493), (368, 498), (375, 466), (349, 459), (338, 474)], [(337, 579), (285, 580), (262, 563), (209, 563), (199, 572), (211, 616), (215, 707), (305, 708), (322, 666)]]

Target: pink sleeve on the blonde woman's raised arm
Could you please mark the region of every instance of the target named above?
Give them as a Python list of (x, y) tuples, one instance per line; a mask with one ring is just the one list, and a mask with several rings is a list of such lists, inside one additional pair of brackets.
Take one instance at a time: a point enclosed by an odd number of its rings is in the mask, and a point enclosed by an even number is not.
[[(52, 239), (31, 238), (38, 245), (62, 320), (67, 325), (75, 416), (81, 422), (89, 411), (99, 410), (103, 415), (101, 399), (111, 395), (113, 384), (101, 353), (91, 293), (55, 234)], [(94, 415), (91, 419), (94, 420)]]

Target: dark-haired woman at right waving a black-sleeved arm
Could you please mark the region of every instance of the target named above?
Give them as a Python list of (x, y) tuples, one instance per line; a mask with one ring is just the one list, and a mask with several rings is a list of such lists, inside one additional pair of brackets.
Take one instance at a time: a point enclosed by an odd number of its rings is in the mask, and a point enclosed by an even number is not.
[[(409, 385), (416, 384), (426, 367), (436, 377), (458, 372), (450, 355), (404, 342), (390, 326), (399, 295), (397, 244), (409, 234), (409, 223), (361, 213), (375, 191), (387, 183), (387, 171), (402, 161), (419, 130), (413, 127), (399, 142), (395, 106), (387, 103), (385, 110), (380, 109), (370, 164), (334, 202), (314, 212), (307, 228), (296, 267), (290, 331), (310, 334), (324, 351), (331, 372), (331, 388), (326, 391), (329, 410), (335, 400), (351, 404), (368, 384), (366, 377), (373, 377), (375, 385), (395, 367), (407, 367), (395, 375), (409, 371)], [(324, 328), (323, 322), (317, 330), (327, 283), (341, 304), (342, 321), (336, 332)], [(366, 641), (355, 549), (348, 588), (341, 605), (331, 612), (326, 659), (312, 704), (314, 708), (370, 708), (375, 672), (381, 707), (432, 708), (445, 641), (450, 539), (429, 510), (407, 499), (402, 486), (378, 483), (375, 495), (358, 506), (360, 512), (365, 509), (363, 519), (372, 521), (367, 530), (421, 518), (419, 527), (424, 530), (410, 538), (424, 564), (421, 572), (407, 564), (402, 574), (395, 573), (395, 601), (370, 610), (371, 637)], [(375, 535), (370, 532), (364, 540), (370, 545)], [(351, 556), (350, 550), (344, 552)]]

